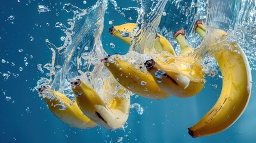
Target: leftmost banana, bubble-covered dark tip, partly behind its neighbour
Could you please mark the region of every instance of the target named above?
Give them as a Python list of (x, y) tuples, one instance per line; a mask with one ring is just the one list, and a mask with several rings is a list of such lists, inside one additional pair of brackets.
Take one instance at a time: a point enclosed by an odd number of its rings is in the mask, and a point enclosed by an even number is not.
[(76, 103), (60, 92), (43, 86), (39, 89), (39, 94), (47, 102), (51, 112), (67, 125), (79, 129), (90, 129), (97, 126), (87, 116), (84, 116)]

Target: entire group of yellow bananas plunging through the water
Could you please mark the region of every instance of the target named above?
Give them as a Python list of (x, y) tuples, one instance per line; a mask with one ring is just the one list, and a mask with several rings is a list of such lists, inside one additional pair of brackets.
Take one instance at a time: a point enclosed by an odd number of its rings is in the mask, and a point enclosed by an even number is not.
[[(113, 26), (109, 32), (130, 44), (132, 36), (129, 35), (136, 26), (134, 23), (122, 24)], [(189, 135), (196, 138), (221, 132), (235, 123), (248, 104), (252, 85), (246, 55), (238, 43), (227, 40), (228, 33), (213, 29), (208, 32), (211, 35), (206, 35), (202, 20), (196, 21), (194, 29), (208, 43), (207, 52), (214, 56), (223, 76), (218, 101), (196, 125), (189, 128)], [(130, 51), (125, 55), (128, 58), (115, 54), (102, 59), (113, 77), (101, 78), (101, 89), (92, 88), (94, 84), (87, 85), (81, 79), (71, 82), (76, 102), (46, 86), (39, 89), (39, 94), (53, 114), (70, 126), (80, 129), (97, 125), (107, 129), (121, 128), (129, 116), (128, 91), (160, 100), (170, 95), (191, 97), (202, 90), (205, 83), (202, 60), (196, 60), (195, 48), (187, 43), (185, 35), (184, 29), (174, 33), (181, 48), (179, 56), (171, 44), (157, 33), (154, 55), (145, 56)], [(131, 57), (136, 57), (136, 60)]]

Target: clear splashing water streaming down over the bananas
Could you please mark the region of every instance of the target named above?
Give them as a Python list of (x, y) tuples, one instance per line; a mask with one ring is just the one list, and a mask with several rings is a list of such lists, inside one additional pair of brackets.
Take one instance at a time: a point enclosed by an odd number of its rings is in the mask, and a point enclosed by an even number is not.
[[(149, 60), (156, 53), (154, 48), (156, 32), (165, 36), (179, 54), (180, 47), (175, 42), (172, 34), (175, 30), (178, 30), (177, 25), (179, 25), (186, 29), (186, 39), (190, 45), (197, 47), (195, 52), (189, 55), (192, 60), (203, 64), (206, 76), (214, 77), (217, 75), (217, 63), (206, 50), (207, 41), (202, 42), (202, 39), (193, 32), (193, 24), (198, 19), (203, 19), (209, 30), (218, 28), (229, 32), (230, 36), (227, 40), (239, 42), (248, 56), (252, 69), (256, 69), (254, 56), (256, 54), (256, 48), (254, 48), (256, 20), (255, 2), (253, 1), (236, 0), (233, 3), (226, 2), (224, 7), (223, 5), (220, 7), (223, 2), (213, 0), (207, 3), (201, 0), (192, 2), (137, 0), (136, 8), (119, 8), (116, 1), (111, 0), (110, 2), (123, 17), (126, 17), (128, 11), (137, 11), (136, 17), (132, 17), (132, 19), (137, 19), (137, 27), (135, 27), (134, 33), (129, 33), (129, 36), (133, 39), (128, 54), (123, 56), (132, 63), (135, 69), (140, 68), (144, 61)], [(234, 6), (239, 4), (240, 7)], [(72, 12), (74, 16), (67, 20), (68, 26), (60, 22), (55, 24), (55, 27), (65, 33), (65, 36), (61, 37), (61, 41), (64, 41), (62, 46), (57, 47), (50, 42), (50, 39), (45, 40), (48, 48), (53, 52), (51, 63), (46, 63), (43, 66), (50, 71), (50, 75), (38, 80), (34, 89), (47, 85), (55, 91), (73, 98), (70, 81), (79, 78), (87, 85), (92, 86), (105, 101), (112, 98), (106, 95), (124, 98), (125, 95), (132, 95), (131, 92), (125, 90), (116, 82), (116, 79), (100, 62), (100, 59), (107, 56), (101, 43), (104, 14), (107, 7), (108, 2), (106, 0), (99, 0), (95, 5), (86, 9), (78, 8), (72, 4), (64, 4), (63, 10), (67, 13)], [(226, 7), (235, 7), (235, 9), (230, 8), (230, 11), (226, 11), (226, 9), (223, 9)], [(249, 7), (249, 9), (246, 9), (246, 7)], [(180, 11), (180, 15), (172, 15), (174, 10)], [(168, 18), (172, 20), (168, 20)], [(199, 45), (201, 42), (202, 44)], [(115, 48), (114, 43), (111, 43), (110, 47)], [(38, 70), (44, 72), (42, 65), (38, 66)], [(141, 85), (146, 84), (141, 83)], [(59, 108), (61, 110), (65, 109), (63, 105), (60, 105)], [(143, 114), (143, 108), (140, 107), (140, 104), (132, 104), (130, 108), (135, 108), (138, 114)]]

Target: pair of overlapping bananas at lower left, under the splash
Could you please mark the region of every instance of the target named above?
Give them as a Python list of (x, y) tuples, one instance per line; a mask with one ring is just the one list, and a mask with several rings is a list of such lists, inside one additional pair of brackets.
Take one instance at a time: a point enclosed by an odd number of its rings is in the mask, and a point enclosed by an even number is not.
[(106, 102), (80, 79), (71, 82), (76, 102), (45, 86), (39, 89), (39, 94), (47, 102), (51, 112), (67, 125), (79, 129), (89, 129), (97, 125), (118, 129), (128, 119), (130, 94), (122, 87), (116, 88), (117, 85), (118, 83), (107, 80), (102, 86), (100, 92), (109, 91), (104, 95)]

